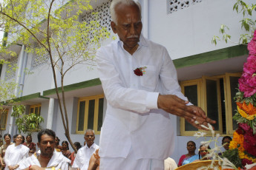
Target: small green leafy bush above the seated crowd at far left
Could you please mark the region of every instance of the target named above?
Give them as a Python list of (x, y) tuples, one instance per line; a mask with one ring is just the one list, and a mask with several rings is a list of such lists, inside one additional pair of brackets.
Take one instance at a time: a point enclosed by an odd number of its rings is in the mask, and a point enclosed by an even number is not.
[(40, 123), (44, 121), (41, 115), (37, 115), (35, 113), (30, 113), (28, 115), (24, 114), (25, 106), (23, 105), (15, 105), (13, 106), (12, 116), (16, 118), (16, 126), (18, 127), (19, 133), (30, 133), (30, 132), (38, 132), (41, 127)]

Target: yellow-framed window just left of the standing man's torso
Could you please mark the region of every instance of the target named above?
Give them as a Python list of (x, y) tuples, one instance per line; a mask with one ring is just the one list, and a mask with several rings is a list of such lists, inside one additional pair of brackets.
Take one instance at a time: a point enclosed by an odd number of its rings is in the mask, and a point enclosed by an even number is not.
[(84, 134), (86, 129), (93, 129), (100, 134), (103, 121), (104, 95), (79, 98), (77, 109), (76, 133)]

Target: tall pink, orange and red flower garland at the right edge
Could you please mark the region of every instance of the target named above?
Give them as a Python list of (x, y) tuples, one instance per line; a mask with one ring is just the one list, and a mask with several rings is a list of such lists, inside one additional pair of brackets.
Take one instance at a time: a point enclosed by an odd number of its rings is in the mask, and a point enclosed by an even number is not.
[(243, 74), (238, 80), (239, 90), (235, 100), (237, 112), (233, 119), (238, 128), (233, 134), (229, 150), (238, 149), (243, 167), (256, 163), (256, 30), (248, 44), (249, 57), (243, 64)]

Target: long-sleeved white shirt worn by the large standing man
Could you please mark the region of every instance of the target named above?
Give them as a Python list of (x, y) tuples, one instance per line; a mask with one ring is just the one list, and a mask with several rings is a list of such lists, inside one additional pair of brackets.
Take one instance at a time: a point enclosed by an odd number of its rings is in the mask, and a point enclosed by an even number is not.
[[(108, 101), (99, 140), (100, 157), (127, 157), (131, 147), (135, 159), (165, 160), (174, 148), (169, 114), (157, 108), (159, 94), (181, 93), (177, 72), (165, 47), (140, 37), (133, 55), (119, 38), (101, 47), (96, 60), (99, 78)], [(134, 69), (146, 67), (142, 76)]]

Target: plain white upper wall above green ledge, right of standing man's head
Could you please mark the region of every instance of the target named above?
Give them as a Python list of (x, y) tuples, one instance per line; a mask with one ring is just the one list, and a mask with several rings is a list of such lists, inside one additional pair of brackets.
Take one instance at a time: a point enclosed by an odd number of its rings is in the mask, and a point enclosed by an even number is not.
[[(234, 3), (235, 0), (203, 0), (183, 10), (167, 14), (166, 0), (150, 0), (148, 38), (163, 44), (172, 59), (233, 46), (235, 44), (219, 42), (215, 47), (211, 44), (211, 38), (219, 35), (221, 24), (226, 24), (230, 28), (232, 39), (238, 41), (242, 15), (238, 16), (233, 11)], [(256, 18), (256, 15), (254, 17)]]

